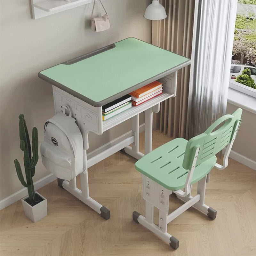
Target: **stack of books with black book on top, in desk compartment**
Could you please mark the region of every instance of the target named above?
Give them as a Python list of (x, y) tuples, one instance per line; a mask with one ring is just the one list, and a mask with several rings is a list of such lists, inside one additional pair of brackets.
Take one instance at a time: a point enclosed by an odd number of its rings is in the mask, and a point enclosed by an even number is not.
[(123, 97), (102, 106), (102, 120), (105, 121), (108, 118), (116, 116), (124, 110), (131, 108), (131, 99), (131, 95), (126, 94)]

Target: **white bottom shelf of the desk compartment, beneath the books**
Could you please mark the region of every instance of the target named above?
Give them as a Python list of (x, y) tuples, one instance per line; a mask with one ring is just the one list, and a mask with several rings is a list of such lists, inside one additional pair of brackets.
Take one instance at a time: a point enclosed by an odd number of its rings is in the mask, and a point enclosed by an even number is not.
[(129, 109), (125, 110), (124, 112), (122, 112), (116, 116), (113, 116), (106, 121), (103, 121), (103, 131), (105, 132), (108, 129), (116, 126), (117, 124), (120, 124), (120, 123), (130, 119), (132, 116), (136, 116), (139, 113), (145, 111), (146, 109), (151, 108), (151, 107), (155, 106), (156, 104), (158, 104), (159, 102), (167, 100), (173, 96), (174, 96), (174, 94), (162, 93), (161, 95), (156, 96), (155, 98), (148, 100), (137, 107), (129, 108)]

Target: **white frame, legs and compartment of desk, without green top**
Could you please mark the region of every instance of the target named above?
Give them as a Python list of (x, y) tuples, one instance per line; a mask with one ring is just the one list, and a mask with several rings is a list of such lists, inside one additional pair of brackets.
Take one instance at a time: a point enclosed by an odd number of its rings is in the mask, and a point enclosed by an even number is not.
[[(84, 171), (79, 174), (81, 190), (76, 187), (76, 178), (69, 182), (58, 179), (58, 185), (76, 196), (94, 211), (98, 212), (105, 220), (110, 218), (110, 211), (89, 196), (88, 168), (121, 149), (124, 149), (127, 154), (136, 159), (140, 159), (144, 156), (144, 154), (139, 151), (139, 114), (144, 111), (145, 154), (152, 151), (153, 112), (159, 112), (160, 103), (162, 101), (176, 96), (177, 70), (159, 79), (159, 81), (163, 83), (163, 93), (161, 95), (142, 103), (140, 106), (132, 107), (106, 121), (102, 121), (102, 107), (94, 107), (53, 85), (55, 113), (66, 113), (66, 111), (70, 109), (72, 117), (76, 119), (78, 127), (83, 134), (84, 140)], [(132, 119), (131, 132), (87, 153), (89, 148), (89, 132), (101, 135), (108, 129), (130, 118)], [(131, 144), (132, 146), (129, 146)]]

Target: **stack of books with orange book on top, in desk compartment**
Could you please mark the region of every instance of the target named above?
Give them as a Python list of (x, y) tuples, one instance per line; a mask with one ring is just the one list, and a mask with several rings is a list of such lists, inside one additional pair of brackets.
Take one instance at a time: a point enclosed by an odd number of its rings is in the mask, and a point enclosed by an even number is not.
[(158, 96), (162, 92), (162, 83), (155, 81), (147, 84), (130, 93), (130, 95), (132, 96), (132, 106), (138, 106), (141, 103)]

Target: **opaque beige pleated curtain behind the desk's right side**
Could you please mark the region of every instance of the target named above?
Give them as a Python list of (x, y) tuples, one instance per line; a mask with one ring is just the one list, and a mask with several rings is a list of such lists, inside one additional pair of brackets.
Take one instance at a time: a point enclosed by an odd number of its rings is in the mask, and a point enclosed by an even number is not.
[[(191, 58), (195, 0), (160, 0), (168, 17), (153, 21), (152, 44)], [(178, 71), (177, 95), (161, 103), (153, 129), (168, 137), (186, 136), (190, 66)]]

